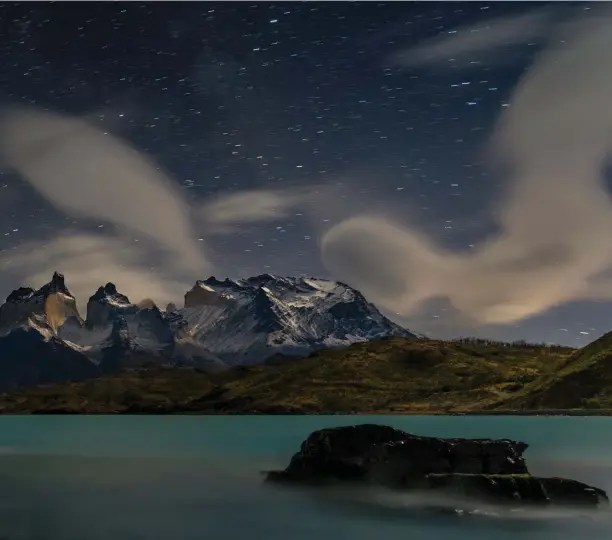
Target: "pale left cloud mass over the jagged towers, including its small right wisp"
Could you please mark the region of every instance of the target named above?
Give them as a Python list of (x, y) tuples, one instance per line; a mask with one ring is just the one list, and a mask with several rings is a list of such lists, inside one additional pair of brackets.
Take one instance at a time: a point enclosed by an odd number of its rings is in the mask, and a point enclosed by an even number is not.
[(282, 218), (316, 193), (254, 189), (193, 205), (126, 141), (85, 119), (31, 108), (0, 115), (0, 158), (59, 210), (111, 225), (97, 234), (58, 230), (50, 239), (0, 253), (5, 284), (40, 286), (58, 270), (80, 309), (108, 281), (134, 302), (178, 302), (213, 268), (194, 218), (203, 217), (206, 240)]

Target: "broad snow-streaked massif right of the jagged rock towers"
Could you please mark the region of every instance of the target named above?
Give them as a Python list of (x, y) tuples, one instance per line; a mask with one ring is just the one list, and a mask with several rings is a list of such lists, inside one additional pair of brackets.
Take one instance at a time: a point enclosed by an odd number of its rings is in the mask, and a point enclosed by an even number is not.
[[(182, 316), (190, 335), (225, 361), (259, 362), (386, 336), (416, 335), (384, 317), (346, 284), (274, 274), (196, 282)], [(233, 360), (235, 361), (235, 360)]]

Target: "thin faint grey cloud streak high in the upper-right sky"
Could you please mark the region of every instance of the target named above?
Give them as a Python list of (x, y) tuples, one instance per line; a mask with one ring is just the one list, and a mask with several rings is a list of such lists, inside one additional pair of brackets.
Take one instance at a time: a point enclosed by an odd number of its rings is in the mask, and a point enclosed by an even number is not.
[[(427, 40), (418, 47), (396, 53), (391, 57), (391, 62), (406, 67), (434, 63), (456, 65), (450, 64), (449, 60), (461, 62), (474, 54), (491, 55), (499, 52), (497, 49), (500, 47), (524, 43), (541, 36), (547, 23), (550, 22), (551, 15), (550, 9), (540, 9), (464, 26), (452, 34)], [(499, 54), (495, 56), (495, 61), (500, 61)]]

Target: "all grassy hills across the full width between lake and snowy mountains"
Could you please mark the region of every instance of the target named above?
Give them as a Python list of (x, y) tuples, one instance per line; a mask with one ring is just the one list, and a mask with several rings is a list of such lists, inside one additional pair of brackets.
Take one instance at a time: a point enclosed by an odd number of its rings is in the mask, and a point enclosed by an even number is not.
[[(265, 304), (268, 309), (267, 300)], [(185, 348), (197, 347), (197, 336), (186, 331), (189, 327), (183, 326), (182, 315), (172, 314), (180, 317), (173, 324)], [(20, 333), (11, 333), (15, 347), (28, 342), (31, 335), (37, 336), (33, 341), (40, 344), (46, 331), (47, 343), (61, 353), (68, 345), (50, 330), (39, 330), (39, 323), (33, 317)], [(49, 377), (49, 384), (34, 388), (5, 387), (2, 390), (10, 391), (0, 395), (0, 412), (612, 413), (612, 332), (582, 349), (482, 339), (439, 341), (387, 336), (314, 350), (299, 360), (275, 354), (263, 363), (213, 370), (188, 362), (147, 363), (150, 357), (140, 356), (142, 351), (130, 339), (128, 330), (127, 321), (117, 317), (113, 323), (115, 337), (109, 345), (123, 346), (122, 354), (129, 361), (111, 366), (107, 370), (110, 373), (101, 369), (95, 377), (80, 373), (80, 379), (73, 377), (72, 382)], [(110, 354), (110, 358), (115, 357)], [(105, 362), (108, 366), (108, 360)], [(24, 377), (31, 382), (32, 373), (45, 367), (26, 362), (25, 375), (23, 370), (18, 374), (22, 382)], [(6, 364), (0, 361), (0, 380), (5, 372)]]

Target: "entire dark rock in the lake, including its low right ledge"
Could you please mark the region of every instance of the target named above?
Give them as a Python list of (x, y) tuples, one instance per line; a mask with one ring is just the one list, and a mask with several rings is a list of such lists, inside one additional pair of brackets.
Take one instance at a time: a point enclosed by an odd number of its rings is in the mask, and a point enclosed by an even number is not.
[(268, 472), (266, 480), (356, 482), (459, 494), (492, 504), (608, 504), (601, 489), (531, 476), (523, 459), (527, 447), (508, 439), (420, 437), (376, 424), (322, 429), (302, 443), (285, 470)]

